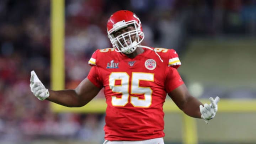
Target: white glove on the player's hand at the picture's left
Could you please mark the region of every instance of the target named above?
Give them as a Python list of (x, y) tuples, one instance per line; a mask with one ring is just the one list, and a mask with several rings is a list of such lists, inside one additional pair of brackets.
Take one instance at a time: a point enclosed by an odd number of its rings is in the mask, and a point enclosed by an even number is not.
[(48, 89), (44, 87), (33, 70), (31, 71), (30, 89), (34, 96), (41, 101), (45, 100), (50, 95)]

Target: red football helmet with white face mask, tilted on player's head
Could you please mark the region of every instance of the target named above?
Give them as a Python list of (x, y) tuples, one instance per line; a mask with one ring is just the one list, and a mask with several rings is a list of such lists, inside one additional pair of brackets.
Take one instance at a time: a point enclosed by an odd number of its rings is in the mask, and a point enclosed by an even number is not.
[[(128, 31), (114, 37), (114, 32), (131, 25), (134, 26), (135, 30)], [(107, 33), (113, 48), (115, 48), (117, 52), (123, 52), (126, 54), (134, 52), (137, 46), (144, 39), (144, 33), (139, 18), (133, 12), (128, 10), (120, 10), (110, 16), (107, 22)], [(132, 41), (131, 36), (134, 34), (136, 34), (135, 40)], [(130, 41), (131, 44), (128, 45), (127, 41)], [(125, 42), (125, 44), (122, 42)]]

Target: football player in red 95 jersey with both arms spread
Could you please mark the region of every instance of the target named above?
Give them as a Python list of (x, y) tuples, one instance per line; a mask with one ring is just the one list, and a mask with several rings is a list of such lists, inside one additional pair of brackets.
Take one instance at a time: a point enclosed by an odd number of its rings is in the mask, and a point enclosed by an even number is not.
[(190, 95), (177, 71), (181, 62), (174, 49), (140, 45), (144, 33), (133, 12), (121, 10), (111, 15), (107, 34), (113, 48), (97, 49), (92, 54), (92, 68), (76, 89), (48, 90), (32, 71), (33, 94), (42, 101), (81, 107), (104, 88), (104, 144), (164, 144), (166, 94), (188, 116), (206, 121), (215, 116), (219, 97), (210, 97), (210, 104), (203, 105)]

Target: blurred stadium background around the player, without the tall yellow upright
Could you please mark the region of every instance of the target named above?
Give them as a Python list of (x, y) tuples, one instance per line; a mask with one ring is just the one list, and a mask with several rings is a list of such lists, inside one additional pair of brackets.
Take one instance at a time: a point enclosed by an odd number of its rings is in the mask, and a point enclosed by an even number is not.
[[(221, 98), (208, 126), (187, 119), (167, 99), (165, 143), (256, 143), (255, 0), (66, 0), (65, 88), (86, 77), (95, 49), (111, 47), (106, 22), (120, 9), (140, 17), (146, 45), (179, 53), (191, 94)], [(97, 112), (86, 112), (41, 102), (30, 92), (31, 70), (51, 86), (50, 16), (49, 0), (0, 1), (0, 143), (102, 143), (102, 93), (89, 105)]]

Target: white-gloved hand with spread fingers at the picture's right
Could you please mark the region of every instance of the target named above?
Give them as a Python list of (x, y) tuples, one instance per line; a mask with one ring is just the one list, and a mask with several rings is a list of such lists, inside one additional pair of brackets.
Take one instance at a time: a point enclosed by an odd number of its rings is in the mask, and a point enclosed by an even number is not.
[(215, 100), (210, 97), (210, 105), (207, 103), (204, 104), (204, 106), (200, 105), (200, 112), (201, 112), (201, 118), (205, 121), (209, 121), (210, 119), (214, 118), (216, 112), (218, 111), (218, 102), (219, 97), (217, 96)]

